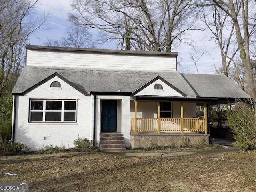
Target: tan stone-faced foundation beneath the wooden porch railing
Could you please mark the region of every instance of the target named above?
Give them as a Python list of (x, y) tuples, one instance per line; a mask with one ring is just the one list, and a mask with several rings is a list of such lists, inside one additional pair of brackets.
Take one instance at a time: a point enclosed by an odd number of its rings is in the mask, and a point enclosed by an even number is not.
[(197, 144), (209, 144), (208, 134), (200, 133), (165, 133), (161, 132), (141, 132), (138, 134), (130, 133), (131, 148), (149, 148), (158, 146), (194, 146)]

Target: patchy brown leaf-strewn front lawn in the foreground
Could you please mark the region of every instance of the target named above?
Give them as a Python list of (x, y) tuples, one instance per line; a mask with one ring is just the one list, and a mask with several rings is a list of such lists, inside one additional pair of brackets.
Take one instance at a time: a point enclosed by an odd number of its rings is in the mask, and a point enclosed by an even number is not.
[(256, 191), (256, 152), (191, 156), (120, 156), (70, 152), (0, 158), (1, 182), (40, 191)]

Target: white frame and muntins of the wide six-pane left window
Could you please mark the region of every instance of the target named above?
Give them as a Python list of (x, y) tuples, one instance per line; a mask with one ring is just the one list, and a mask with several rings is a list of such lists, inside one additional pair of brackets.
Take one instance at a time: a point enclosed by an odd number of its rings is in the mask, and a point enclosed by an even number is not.
[[(43, 110), (31, 110), (31, 101), (43, 101)], [(61, 101), (61, 110), (46, 110), (46, 101)], [(76, 102), (76, 110), (64, 110), (64, 101), (75, 101)], [(42, 121), (31, 121), (31, 112), (43, 112), (43, 120)], [(46, 112), (61, 112), (61, 120), (60, 121), (46, 121), (45, 114)], [(64, 121), (64, 112), (75, 112), (75, 120), (74, 121)], [(77, 122), (77, 100), (60, 100), (60, 99), (30, 99), (29, 101), (29, 123), (76, 123)]]

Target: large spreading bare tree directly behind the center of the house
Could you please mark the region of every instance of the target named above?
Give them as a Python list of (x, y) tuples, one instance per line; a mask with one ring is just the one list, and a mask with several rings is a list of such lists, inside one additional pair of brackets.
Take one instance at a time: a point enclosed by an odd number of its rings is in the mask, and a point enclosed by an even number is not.
[(71, 22), (134, 50), (171, 51), (196, 20), (193, 0), (73, 0), (72, 7)]

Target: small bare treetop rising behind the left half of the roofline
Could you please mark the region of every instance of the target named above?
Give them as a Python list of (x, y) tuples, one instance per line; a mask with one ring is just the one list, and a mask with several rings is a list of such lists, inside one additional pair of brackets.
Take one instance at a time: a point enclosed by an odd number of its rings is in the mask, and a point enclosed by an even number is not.
[(88, 31), (88, 28), (83, 26), (69, 26), (66, 29), (65, 35), (57, 40), (48, 39), (44, 45), (77, 48), (88, 48), (92, 46), (92, 34)]

